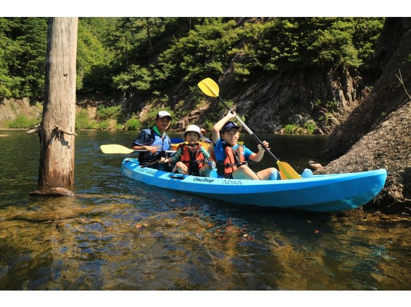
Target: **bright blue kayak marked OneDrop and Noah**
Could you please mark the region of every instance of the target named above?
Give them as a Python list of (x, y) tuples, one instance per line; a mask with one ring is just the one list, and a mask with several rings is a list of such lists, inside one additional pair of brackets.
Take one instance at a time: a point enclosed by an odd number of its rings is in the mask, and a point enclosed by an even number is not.
[(236, 204), (339, 212), (361, 207), (385, 184), (387, 171), (377, 169), (291, 180), (239, 180), (197, 177), (140, 167), (137, 159), (124, 159), (124, 176), (146, 184)]

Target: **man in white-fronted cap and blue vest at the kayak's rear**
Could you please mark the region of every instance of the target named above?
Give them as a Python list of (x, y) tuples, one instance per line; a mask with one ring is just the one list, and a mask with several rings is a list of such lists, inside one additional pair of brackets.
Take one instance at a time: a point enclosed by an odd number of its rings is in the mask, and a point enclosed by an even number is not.
[[(165, 157), (165, 152), (162, 150), (169, 150), (171, 147), (170, 137), (165, 131), (169, 128), (172, 120), (171, 114), (167, 111), (159, 111), (156, 116), (156, 124), (148, 129), (141, 130), (137, 139), (133, 142), (133, 149), (147, 150), (147, 152), (140, 152), (138, 161), (140, 165), (147, 164), (155, 159), (159, 160)], [(171, 171), (172, 167), (169, 164), (157, 163), (152, 166), (164, 171)]]

